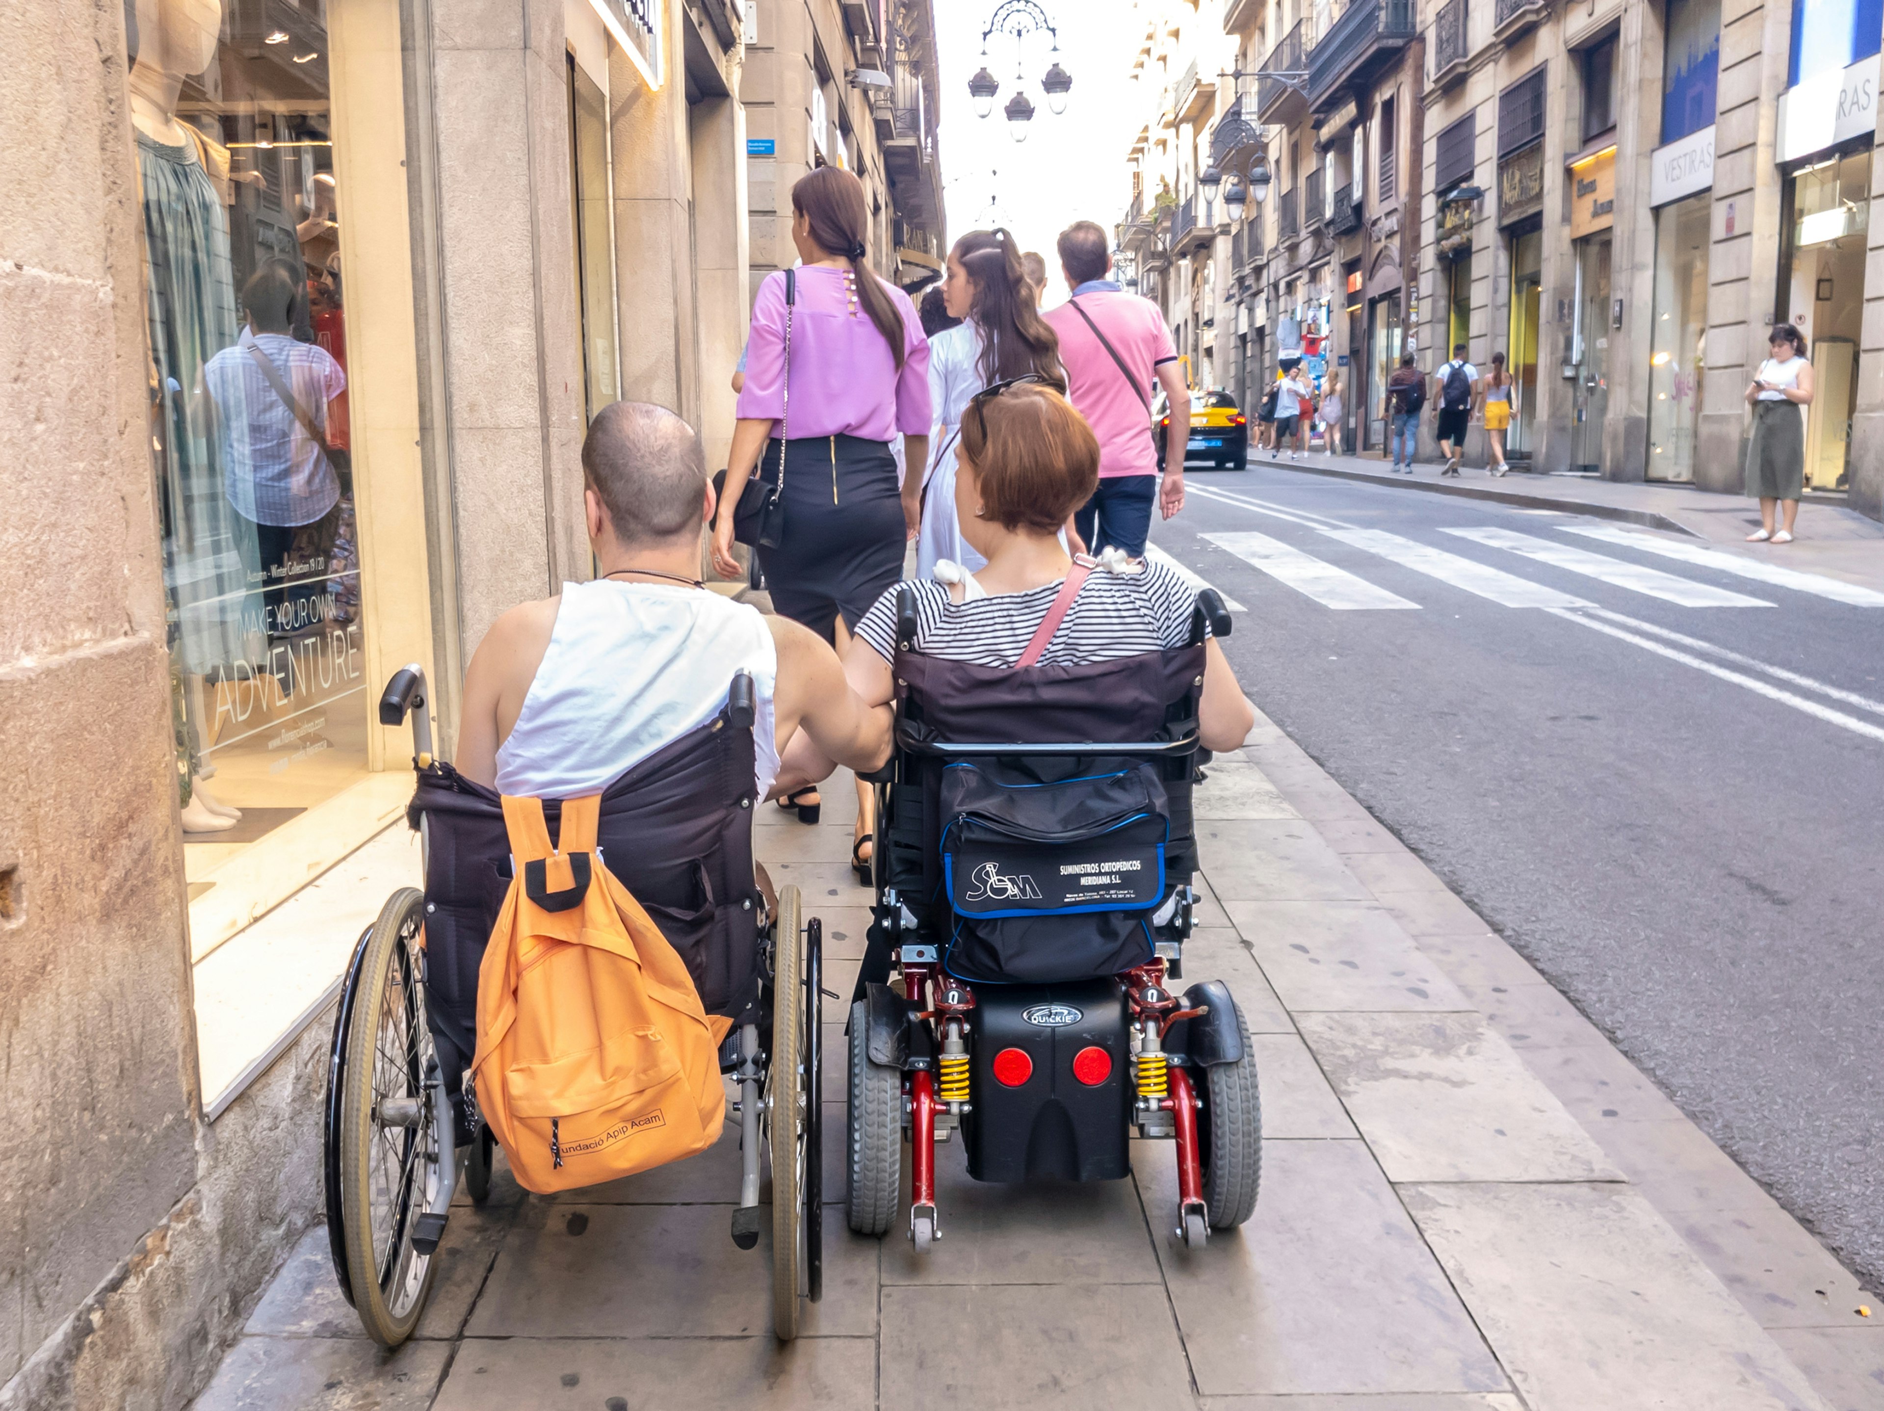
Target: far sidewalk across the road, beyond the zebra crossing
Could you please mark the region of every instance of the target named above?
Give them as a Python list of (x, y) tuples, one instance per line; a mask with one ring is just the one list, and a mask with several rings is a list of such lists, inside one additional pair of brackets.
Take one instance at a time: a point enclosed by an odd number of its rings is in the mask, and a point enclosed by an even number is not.
[[(1302, 460), (1277, 460), (1274, 452), (1251, 450), (1249, 463), (1389, 484), (1417, 494), (1462, 495), (1502, 501), (1517, 509), (1554, 509), (1564, 514), (1620, 520), (1645, 529), (1707, 539), (1737, 554), (1756, 554), (1773, 563), (1826, 573), (1846, 582), (1884, 586), (1884, 524), (1867, 520), (1837, 499), (1807, 497), (1799, 505), (1797, 541), (1771, 546), (1746, 543), (1746, 535), (1760, 527), (1758, 501), (1711, 494), (1688, 484), (1626, 484), (1526, 471), (1494, 478), (1483, 465), (1462, 465), (1456, 477), (1441, 480), (1439, 462), (1421, 463), (1413, 475), (1394, 475), (1389, 463), (1375, 456), (1326, 456), (1319, 450), (1304, 452)], [(1234, 477), (1211, 477), (1208, 484), (1234, 488)]]

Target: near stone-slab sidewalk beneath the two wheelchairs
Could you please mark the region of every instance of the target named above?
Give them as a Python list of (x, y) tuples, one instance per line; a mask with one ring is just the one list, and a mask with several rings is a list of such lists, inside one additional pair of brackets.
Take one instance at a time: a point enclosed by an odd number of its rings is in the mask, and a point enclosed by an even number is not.
[[(825, 917), (846, 995), (852, 799), (840, 776), (816, 829), (767, 808), (757, 846)], [(950, 1143), (927, 1260), (835, 1204), (823, 1304), (778, 1347), (765, 1243), (727, 1238), (731, 1142), (558, 1198), (499, 1172), (452, 1217), (418, 1338), (360, 1336), (315, 1226), (198, 1409), (1884, 1405), (1871, 1298), (1287, 737), (1259, 723), (1196, 816), (1185, 978), (1228, 981), (1260, 1062), (1243, 1230), (1172, 1238), (1164, 1142), (1130, 1181), (1032, 1189), (970, 1183)], [(836, 1202), (842, 1081), (831, 1062)]]

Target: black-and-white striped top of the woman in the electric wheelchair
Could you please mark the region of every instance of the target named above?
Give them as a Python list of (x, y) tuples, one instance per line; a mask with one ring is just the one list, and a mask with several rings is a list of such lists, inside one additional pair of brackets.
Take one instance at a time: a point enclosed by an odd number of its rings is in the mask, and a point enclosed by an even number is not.
[[(925, 578), (908, 586), (916, 590), (916, 650), (978, 667), (1019, 661), (1059, 595), (1059, 582), (1049, 582), (1025, 593), (951, 603), (944, 582)], [(1053, 633), (1040, 665), (1074, 667), (1183, 646), (1191, 641), (1194, 607), (1191, 584), (1155, 560), (1145, 560), (1134, 573), (1095, 571)], [(895, 661), (895, 588), (863, 614), (857, 637), (885, 661)]]

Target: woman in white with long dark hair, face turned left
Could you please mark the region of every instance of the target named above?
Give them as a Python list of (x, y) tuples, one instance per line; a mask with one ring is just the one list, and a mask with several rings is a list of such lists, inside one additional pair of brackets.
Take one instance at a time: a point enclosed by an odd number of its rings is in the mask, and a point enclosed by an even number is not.
[[(961, 414), (985, 386), (1038, 373), (1066, 390), (1059, 335), (1040, 316), (1027, 266), (1006, 230), (970, 230), (948, 256), (942, 303), (961, 326), (929, 345), (929, 401), (936, 426), (934, 463), (923, 484), (923, 527), (916, 541), (916, 576), (955, 582), (980, 573), (983, 560), (955, 520), (955, 452)], [(936, 565), (950, 565), (936, 571)]]

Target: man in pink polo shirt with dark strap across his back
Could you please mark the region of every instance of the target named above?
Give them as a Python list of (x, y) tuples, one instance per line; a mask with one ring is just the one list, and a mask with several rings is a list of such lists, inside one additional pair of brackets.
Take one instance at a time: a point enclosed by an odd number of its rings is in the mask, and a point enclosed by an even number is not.
[[(1159, 305), (1110, 279), (1110, 243), (1091, 220), (1061, 232), (1061, 273), (1072, 298), (1042, 316), (1059, 333), (1066, 397), (1098, 437), (1098, 490), (1074, 512), (1074, 527), (1093, 554), (1117, 546), (1144, 558), (1151, 501), (1159, 501), (1166, 520), (1183, 509), (1191, 390)], [(1162, 492), (1151, 428), (1153, 381), (1172, 409)]]

